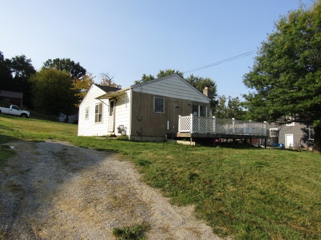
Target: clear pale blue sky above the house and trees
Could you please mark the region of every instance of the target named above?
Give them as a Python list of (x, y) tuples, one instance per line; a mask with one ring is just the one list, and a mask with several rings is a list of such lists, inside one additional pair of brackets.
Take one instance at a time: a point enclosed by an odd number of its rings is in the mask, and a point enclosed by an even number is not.
[(244, 56), (191, 73), (210, 77), (219, 95), (241, 96), (242, 77), (253, 65), (274, 23), (312, 0), (2, 0), (0, 51), (25, 54), (39, 70), (48, 59), (70, 58), (100, 82), (114, 76), (122, 87), (182, 72), (246, 52)]

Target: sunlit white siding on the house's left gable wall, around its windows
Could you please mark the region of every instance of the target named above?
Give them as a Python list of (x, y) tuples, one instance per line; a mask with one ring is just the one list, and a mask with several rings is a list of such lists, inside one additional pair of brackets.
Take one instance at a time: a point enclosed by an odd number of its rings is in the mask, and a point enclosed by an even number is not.
[[(103, 101), (103, 119), (101, 123), (95, 123), (95, 105), (101, 101), (95, 99), (104, 94), (105, 91), (92, 85), (87, 95), (79, 106), (78, 136), (102, 136), (108, 135), (108, 110), (109, 103), (107, 99)], [(85, 119), (86, 108), (89, 107), (89, 117)]]

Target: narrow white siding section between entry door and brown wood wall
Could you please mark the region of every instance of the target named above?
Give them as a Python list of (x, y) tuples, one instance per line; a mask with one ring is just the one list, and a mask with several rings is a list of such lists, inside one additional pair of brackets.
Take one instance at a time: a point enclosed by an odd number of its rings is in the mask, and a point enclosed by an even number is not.
[(115, 133), (116, 135), (121, 135), (118, 133), (117, 127), (119, 125), (124, 126), (124, 135), (129, 135), (130, 130), (130, 90), (124, 92), (117, 97), (116, 108), (115, 108)]

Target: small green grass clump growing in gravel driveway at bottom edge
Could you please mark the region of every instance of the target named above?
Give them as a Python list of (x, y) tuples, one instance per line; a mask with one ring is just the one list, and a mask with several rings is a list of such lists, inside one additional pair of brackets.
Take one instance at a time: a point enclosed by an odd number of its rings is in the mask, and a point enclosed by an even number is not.
[(117, 237), (117, 240), (145, 240), (144, 232), (150, 229), (148, 223), (143, 223), (141, 225), (134, 225), (130, 227), (114, 228), (112, 233)]

